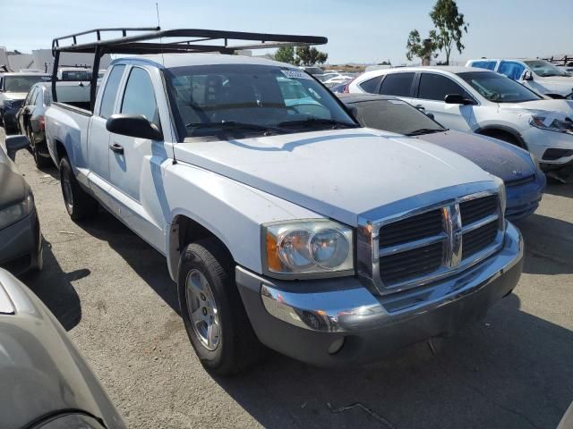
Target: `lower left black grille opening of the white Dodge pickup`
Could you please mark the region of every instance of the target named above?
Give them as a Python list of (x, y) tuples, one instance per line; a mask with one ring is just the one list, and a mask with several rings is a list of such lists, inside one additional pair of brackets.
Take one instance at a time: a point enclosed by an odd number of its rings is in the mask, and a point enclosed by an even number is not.
[(384, 282), (404, 282), (440, 268), (443, 243), (438, 242), (423, 248), (414, 248), (388, 257), (381, 257), (380, 273)]

